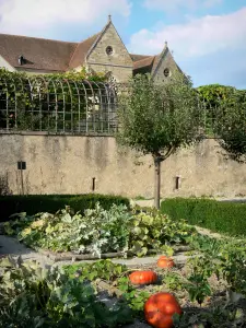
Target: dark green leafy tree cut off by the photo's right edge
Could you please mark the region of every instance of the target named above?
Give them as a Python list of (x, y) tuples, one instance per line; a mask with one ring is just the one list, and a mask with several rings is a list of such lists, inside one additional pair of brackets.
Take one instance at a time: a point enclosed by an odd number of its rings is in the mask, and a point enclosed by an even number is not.
[(197, 87), (204, 104), (206, 130), (218, 138), (226, 156), (244, 161), (246, 155), (246, 91), (210, 84)]

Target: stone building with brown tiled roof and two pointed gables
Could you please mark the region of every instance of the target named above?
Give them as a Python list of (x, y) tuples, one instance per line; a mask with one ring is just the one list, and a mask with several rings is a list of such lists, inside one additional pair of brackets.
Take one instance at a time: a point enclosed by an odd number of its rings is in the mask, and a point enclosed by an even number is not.
[(126, 82), (136, 73), (151, 73), (156, 82), (168, 81), (178, 69), (168, 47), (156, 56), (129, 54), (110, 15), (105, 27), (80, 43), (0, 34), (0, 67), (31, 74), (66, 72), (81, 67), (110, 73)]

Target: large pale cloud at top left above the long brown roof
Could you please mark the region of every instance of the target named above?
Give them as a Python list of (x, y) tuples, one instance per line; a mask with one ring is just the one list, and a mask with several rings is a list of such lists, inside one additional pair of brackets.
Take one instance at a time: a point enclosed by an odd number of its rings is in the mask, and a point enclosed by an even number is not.
[(90, 26), (108, 14), (128, 16), (129, 0), (1, 0), (0, 33), (36, 35), (61, 24)]

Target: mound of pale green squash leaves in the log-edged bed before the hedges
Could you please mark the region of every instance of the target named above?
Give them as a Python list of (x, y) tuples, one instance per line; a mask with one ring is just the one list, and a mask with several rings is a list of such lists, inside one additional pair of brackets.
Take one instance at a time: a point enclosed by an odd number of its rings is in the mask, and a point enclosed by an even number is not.
[(120, 251), (122, 255), (143, 256), (149, 250), (173, 255), (172, 245), (187, 244), (196, 230), (185, 221), (173, 221), (157, 211), (136, 213), (127, 207), (112, 206), (75, 213), (67, 207), (55, 214), (20, 213), (4, 223), (8, 235), (31, 247), (75, 254)]

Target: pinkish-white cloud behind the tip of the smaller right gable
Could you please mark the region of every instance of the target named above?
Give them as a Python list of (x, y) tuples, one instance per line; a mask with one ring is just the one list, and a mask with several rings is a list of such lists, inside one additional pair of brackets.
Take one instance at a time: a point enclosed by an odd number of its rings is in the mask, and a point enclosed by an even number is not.
[(129, 49), (134, 52), (156, 54), (167, 40), (175, 57), (192, 58), (214, 54), (231, 47), (243, 47), (246, 57), (246, 8), (221, 16), (207, 15), (185, 24), (162, 25), (159, 30), (141, 30), (133, 34)]

